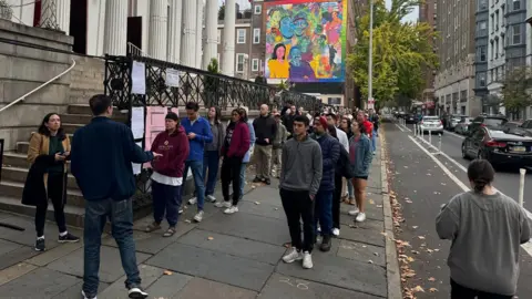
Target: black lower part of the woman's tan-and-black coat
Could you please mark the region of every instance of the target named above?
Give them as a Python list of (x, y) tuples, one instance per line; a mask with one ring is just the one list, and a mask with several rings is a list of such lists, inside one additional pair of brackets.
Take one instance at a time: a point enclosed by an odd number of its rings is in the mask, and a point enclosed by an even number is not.
[[(28, 177), (25, 178), (24, 189), (22, 192), (23, 205), (39, 206), (48, 202), (47, 187), (44, 186), (44, 174), (47, 173), (48, 167), (54, 163), (54, 155), (40, 155), (35, 158), (30, 167), (30, 171), (28, 172)], [(62, 192), (64, 205), (66, 202), (66, 173), (63, 175)]]

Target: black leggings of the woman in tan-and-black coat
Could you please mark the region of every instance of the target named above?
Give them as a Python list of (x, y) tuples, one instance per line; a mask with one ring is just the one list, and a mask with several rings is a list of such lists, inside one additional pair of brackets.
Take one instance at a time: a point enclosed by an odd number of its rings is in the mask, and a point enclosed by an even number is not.
[[(64, 219), (63, 200), (63, 174), (50, 174), (48, 176), (48, 197), (52, 200), (53, 215), (58, 224), (59, 233), (66, 231), (66, 221)], [(37, 236), (44, 236), (44, 223), (47, 221), (48, 199), (45, 203), (35, 207), (35, 230)]]

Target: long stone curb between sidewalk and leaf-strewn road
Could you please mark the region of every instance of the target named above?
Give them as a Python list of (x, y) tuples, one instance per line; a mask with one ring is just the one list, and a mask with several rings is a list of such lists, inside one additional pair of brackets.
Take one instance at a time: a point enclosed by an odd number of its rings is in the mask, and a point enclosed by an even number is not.
[(380, 175), (382, 188), (382, 212), (385, 214), (385, 244), (386, 244), (386, 277), (388, 280), (388, 299), (402, 299), (401, 279), (399, 262), (397, 260), (397, 248), (393, 237), (393, 218), (391, 212), (388, 173), (385, 159), (385, 137), (383, 131), (380, 130)]

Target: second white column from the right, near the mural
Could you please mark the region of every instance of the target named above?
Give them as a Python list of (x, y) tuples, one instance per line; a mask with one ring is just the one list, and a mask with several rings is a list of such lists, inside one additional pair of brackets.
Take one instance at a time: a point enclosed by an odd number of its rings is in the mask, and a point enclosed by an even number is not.
[[(203, 41), (203, 69), (207, 70), (211, 60), (218, 54), (218, 1), (207, 0), (205, 8), (205, 33)], [(219, 63), (219, 61), (218, 61)]]

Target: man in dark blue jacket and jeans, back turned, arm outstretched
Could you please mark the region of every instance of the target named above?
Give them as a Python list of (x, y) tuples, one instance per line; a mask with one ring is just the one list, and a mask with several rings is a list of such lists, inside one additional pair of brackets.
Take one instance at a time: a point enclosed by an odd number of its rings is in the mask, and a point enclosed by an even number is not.
[(89, 104), (94, 118), (75, 131), (71, 154), (72, 174), (85, 198), (82, 295), (96, 298), (101, 237), (109, 218), (127, 277), (129, 297), (146, 298), (147, 293), (141, 289), (133, 240), (131, 197), (136, 185), (132, 163), (146, 163), (161, 155), (142, 151), (131, 130), (110, 118), (113, 106), (109, 96), (94, 95)]

